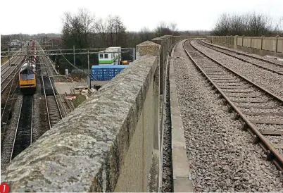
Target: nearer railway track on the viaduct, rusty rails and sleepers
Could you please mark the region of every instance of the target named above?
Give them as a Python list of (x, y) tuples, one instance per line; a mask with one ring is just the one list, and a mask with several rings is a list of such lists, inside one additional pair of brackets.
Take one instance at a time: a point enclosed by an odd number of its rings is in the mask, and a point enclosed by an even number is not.
[(194, 51), (188, 51), (186, 42), (183, 48), (187, 56), (215, 92), (225, 99), (229, 111), (234, 111), (235, 118), (243, 122), (243, 129), (253, 137), (253, 144), (259, 144), (267, 160), (283, 171), (283, 144), (280, 143), (280, 137), (283, 137), (283, 99), (210, 58), (191, 42), (189, 46)]

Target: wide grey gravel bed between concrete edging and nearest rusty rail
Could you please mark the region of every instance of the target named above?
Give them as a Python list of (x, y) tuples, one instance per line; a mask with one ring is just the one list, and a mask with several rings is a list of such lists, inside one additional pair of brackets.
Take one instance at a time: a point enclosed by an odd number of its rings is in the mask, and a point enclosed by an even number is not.
[(177, 44), (177, 91), (196, 192), (283, 192), (282, 173), (227, 113)]

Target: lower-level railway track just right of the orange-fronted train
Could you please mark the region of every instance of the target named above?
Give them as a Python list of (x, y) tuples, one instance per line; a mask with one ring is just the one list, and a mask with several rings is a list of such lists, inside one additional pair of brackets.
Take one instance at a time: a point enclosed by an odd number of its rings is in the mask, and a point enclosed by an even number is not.
[[(42, 57), (41, 61), (42, 63), (46, 62), (44, 56)], [(40, 67), (42, 72), (42, 91), (46, 102), (49, 128), (51, 129), (51, 127), (56, 125), (56, 123), (63, 118), (63, 115), (61, 113), (61, 107), (59, 104), (60, 99), (58, 99), (59, 97), (54, 87), (54, 82), (51, 80), (52, 77), (49, 76), (49, 70), (45, 64), (41, 64)]]

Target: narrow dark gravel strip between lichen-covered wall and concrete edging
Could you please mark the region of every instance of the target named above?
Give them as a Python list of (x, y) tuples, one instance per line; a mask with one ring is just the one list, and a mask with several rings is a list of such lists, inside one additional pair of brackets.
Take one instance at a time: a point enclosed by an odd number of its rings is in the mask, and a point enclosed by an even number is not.
[(162, 192), (172, 192), (172, 149), (171, 149), (171, 111), (170, 111), (170, 84), (169, 68), (167, 69), (165, 127), (163, 138), (163, 179)]

